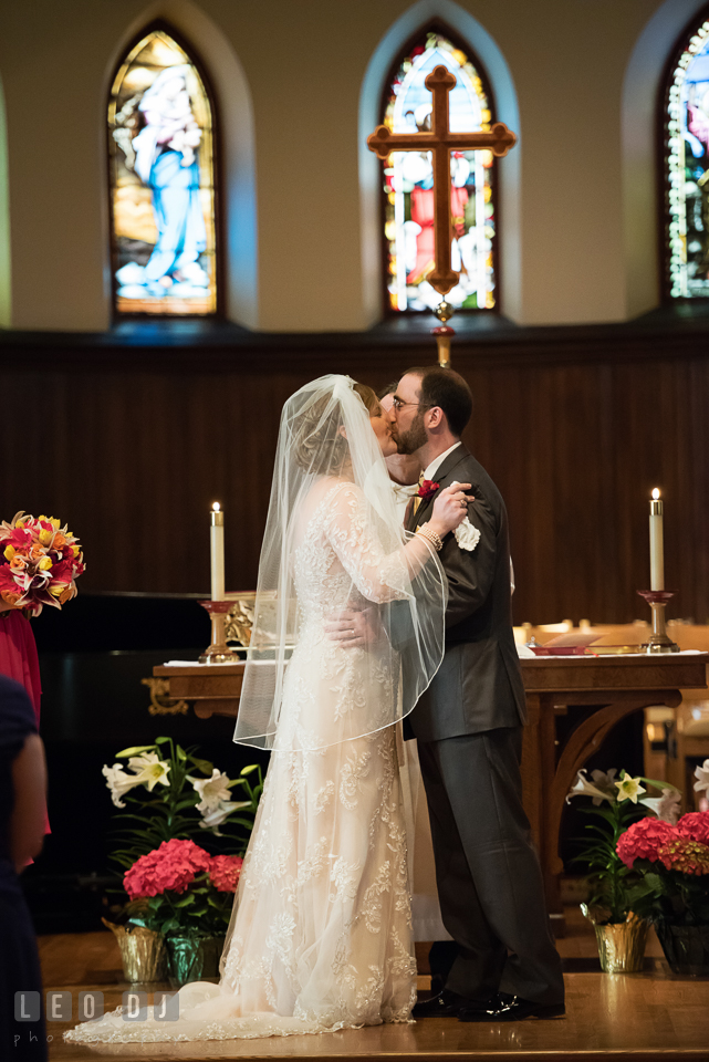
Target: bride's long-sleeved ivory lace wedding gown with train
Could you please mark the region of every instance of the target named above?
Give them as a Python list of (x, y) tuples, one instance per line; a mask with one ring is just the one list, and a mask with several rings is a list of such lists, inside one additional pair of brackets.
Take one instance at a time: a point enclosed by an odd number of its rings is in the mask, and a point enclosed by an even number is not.
[[(221, 983), (181, 989), (177, 1021), (128, 1022), (116, 1011), (79, 1025), (72, 1041), (256, 1038), (409, 1018), (416, 964), (397, 728), (374, 727), (392, 718), (399, 676), (386, 641), (345, 649), (324, 631), (333, 607), (404, 596), (406, 565), (400, 551), (377, 549), (357, 487), (325, 487), (293, 551), (300, 637)], [(356, 732), (356, 714), (373, 732), (341, 740)]]

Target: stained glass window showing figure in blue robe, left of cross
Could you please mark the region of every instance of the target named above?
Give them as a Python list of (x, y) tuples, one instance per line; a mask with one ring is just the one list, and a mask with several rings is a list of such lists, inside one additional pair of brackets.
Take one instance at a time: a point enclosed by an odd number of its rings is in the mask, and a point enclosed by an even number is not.
[(156, 29), (131, 49), (108, 104), (115, 309), (217, 309), (212, 114), (199, 71)]

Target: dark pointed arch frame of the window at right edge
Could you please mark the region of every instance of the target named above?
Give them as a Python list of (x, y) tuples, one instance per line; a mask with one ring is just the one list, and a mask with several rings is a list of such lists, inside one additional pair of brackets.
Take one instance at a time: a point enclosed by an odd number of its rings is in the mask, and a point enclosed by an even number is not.
[[(709, 288), (707, 289), (706, 295), (677, 295), (672, 294), (672, 248), (671, 239), (675, 236), (670, 226), (672, 225), (672, 218), (675, 215), (671, 210), (671, 159), (670, 159), (670, 136), (675, 131), (670, 131), (670, 93), (674, 86), (675, 72), (679, 67), (680, 60), (685, 52), (688, 51), (688, 45), (691, 41), (691, 38), (695, 37), (698, 31), (702, 29), (705, 23), (709, 23), (709, 3), (705, 4), (698, 11), (692, 14), (691, 19), (686, 22), (682, 28), (681, 33), (676, 38), (675, 43), (669, 52), (669, 58), (665, 64), (663, 75), (659, 82), (659, 93), (657, 98), (657, 112), (656, 112), (656, 139), (657, 139), (657, 211), (658, 211), (658, 261), (660, 266), (660, 278), (659, 278), (659, 289), (660, 289), (660, 302), (664, 305), (706, 305), (709, 302)], [(709, 27), (707, 30), (707, 40), (709, 41)], [(707, 155), (709, 160), (709, 147), (707, 148)], [(708, 167), (709, 170), (709, 167)], [(686, 233), (685, 233), (686, 236)], [(707, 254), (709, 256), (709, 230), (707, 237)]]

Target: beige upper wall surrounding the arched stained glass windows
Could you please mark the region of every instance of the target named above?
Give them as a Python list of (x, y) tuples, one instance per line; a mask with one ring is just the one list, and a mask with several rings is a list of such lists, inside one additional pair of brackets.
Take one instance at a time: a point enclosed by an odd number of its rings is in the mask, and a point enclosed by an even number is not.
[[(519, 145), (501, 167), (505, 312), (523, 323), (562, 324), (649, 309), (657, 260), (648, 235), (656, 209), (646, 143), (655, 100), (648, 100), (675, 33), (698, 7), (699, 0), (6, 4), (0, 75), (11, 323), (87, 331), (110, 323), (106, 93), (121, 50), (156, 14), (171, 19), (202, 53), (220, 105), (232, 320), (317, 331), (363, 329), (376, 319), (378, 247), (371, 235), (362, 246), (363, 227), (373, 230), (366, 187), (361, 195), (362, 115), (373, 62), (396, 51), (393, 27), (398, 21), (405, 39), (411, 23), (435, 11), (478, 48), (500, 116), (519, 122)], [(638, 106), (645, 132), (634, 122)], [(639, 153), (628, 147), (634, 131), (636, 140), (645, 137)], [(1, 206), (0, 196), (0, 221)]]

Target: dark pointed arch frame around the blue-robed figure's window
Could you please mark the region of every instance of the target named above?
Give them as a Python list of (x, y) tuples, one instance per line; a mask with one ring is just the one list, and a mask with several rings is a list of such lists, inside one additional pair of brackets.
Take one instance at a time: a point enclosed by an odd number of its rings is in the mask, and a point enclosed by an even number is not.
[[(133, 52), (140, 41), (145, 40), (150, 33), (160, 32), (165, 33), (180, 48), (185, 54), (189, 58), (189, 61), (192, 66), (195, 66), (199, 79), (201, 81), (202, 87), (205, 90), (205, 95), (207, 96), (207, 102), (209, 103), (209, 108), (211, 112), (211, 173), (212, 173), (212, 214), (213, 214), (213, 231), (215, 231), (215, 283), (216, 283), (216, 305), (212, 311), (209, 313), (149, 313), (143, 311), (136, 311), (135, 313), (121, 312), (116, 306), (116, 294), (118, 289), (118, 282), (116, 281), (116, 270), (117, 266), (117, 242), (114, 225), (114, 207), (113, 207), (113, 181), (112, 181), (112, 166), (113, 158), (112, 153), (115, 149), (115, 142), (113, 140), (110, 124), (108, 124), (108, 114), (111, 104), (113, 102), (113, 86), (116, 82), (116, 77), (121, 69), (125, 65), (126, 58)], [(108, 258), (110, 258), (110, 269), (111, 269), (111, 316), (114, 323), (119, 321), (184, 321), (184, 320), (199, 320), (199, 321), (217, 321), (225, 320), (226, 316), (226, 299), (225, 299), (225, 280), (226, 280), (226, 268), (223, 261), (225, 248), (227, 241), (225, 239), (223, 232), (223, 221), (222, 221), (222, 211), (221, 211), (221, 187), (223, 180), (222, 173), (222, 152), (221, 152), (221, 127), (220, 127), (220, 114), (219, 105), (216, 100), (213, 86), (211, 79), (205, 65), (205, 62), (200, 55), (199, 50), (188, 41), (185, 35), (177, 30), (171, 22), (166, 21), (165, 19), (153, 19), (150, 22), (147, 22), (137, 33), (135, 33), (128, 43), (122, 49), (121, 56), (115, 63), (111, 77), (108, 81), (108, 88), (105, 96), (105, 106), (104, 106), (104, 123), (105, 123), (105, 157), (106, 157), (106, 188), (107, 188), (107, 211), (108, 211)]]

